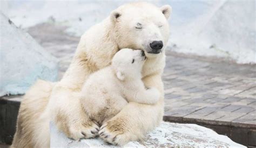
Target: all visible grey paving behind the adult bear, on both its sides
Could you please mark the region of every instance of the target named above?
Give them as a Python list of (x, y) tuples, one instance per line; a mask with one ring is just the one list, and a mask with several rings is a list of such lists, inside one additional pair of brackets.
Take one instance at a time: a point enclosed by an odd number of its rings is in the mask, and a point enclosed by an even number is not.
[[(60, 60), (59, 79), (79, 38), (65, 28), (41, 24), (28, 32)], [(165, 116), (256, 125), (256, 65), (182, 57), (167, 52), (163, 75)]]

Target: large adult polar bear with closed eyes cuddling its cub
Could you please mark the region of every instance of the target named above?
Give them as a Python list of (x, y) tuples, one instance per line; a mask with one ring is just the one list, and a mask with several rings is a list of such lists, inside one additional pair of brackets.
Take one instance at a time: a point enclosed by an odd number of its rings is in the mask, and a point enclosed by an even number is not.
[(114, 143), (123, 145), (142, 138), (156, 127), (164, 112), (161, 74), (165, 67), (170, 13), (169, 5), (157, 8), (144, 2), (129, 3), (86, 31), (63, 79), (57, 83), (38, 81), (24, 96), (12, 147), (49, 147), (50, 121), (70, 138), (93, 137), (91, 131), (98, 125), (87, 117), (77, 94), (87, 77), (110, 65), (113, 55), (122, 48), (145, 51), (143, 82), (147, 87), (159, 89), (161, 97), (155, 105), (128, 103), (102, 125), (107, 135), (105, 140), (113, 143), (114, 139)]

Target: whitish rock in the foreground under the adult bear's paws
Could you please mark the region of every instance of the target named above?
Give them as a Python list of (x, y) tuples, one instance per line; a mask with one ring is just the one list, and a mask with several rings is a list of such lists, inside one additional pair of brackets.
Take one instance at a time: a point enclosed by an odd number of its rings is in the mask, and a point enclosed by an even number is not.
[[(50, 123), (51, 147), (114, 147), (100, 138), (75, 141), (58, 132)], [(162, 122), (140, 142), (130, 142), (124, 147), (246, 147), (230, 138), (218, 135), (211, 129), (196, 124)]]

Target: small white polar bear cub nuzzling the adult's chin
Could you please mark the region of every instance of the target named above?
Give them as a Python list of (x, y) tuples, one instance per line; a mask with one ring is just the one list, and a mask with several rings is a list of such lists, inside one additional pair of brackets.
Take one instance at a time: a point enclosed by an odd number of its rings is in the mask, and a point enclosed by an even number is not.
[(160, 92), (146, 88), (142, 81), (145, 60), (143, 51), (124, 48), (114, 55), (110, 66), (91, 74), (80, 100), (87, 115), (101, 124), (118, 114), (127, 102), (157, 103)]

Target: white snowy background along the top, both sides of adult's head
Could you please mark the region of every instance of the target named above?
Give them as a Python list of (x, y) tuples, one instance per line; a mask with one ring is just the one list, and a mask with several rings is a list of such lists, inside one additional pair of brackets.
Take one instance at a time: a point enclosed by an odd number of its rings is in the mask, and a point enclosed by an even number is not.
[[(131, 1), (1, 1), (2, 11), (22, 28), (48, 22), (80, 37), (119, 5)], [(173, 8), (169, 50), (255, 64), (255, 1), (150, 1)]]

